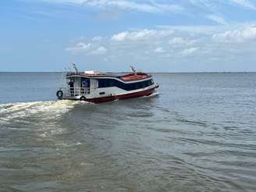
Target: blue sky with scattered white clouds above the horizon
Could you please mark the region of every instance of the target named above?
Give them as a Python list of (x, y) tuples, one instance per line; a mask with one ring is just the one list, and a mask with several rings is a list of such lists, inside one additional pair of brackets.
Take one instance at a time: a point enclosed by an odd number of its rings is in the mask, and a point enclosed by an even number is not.
[(2, 0), (0, 71), (255, 72), (256, 0)]

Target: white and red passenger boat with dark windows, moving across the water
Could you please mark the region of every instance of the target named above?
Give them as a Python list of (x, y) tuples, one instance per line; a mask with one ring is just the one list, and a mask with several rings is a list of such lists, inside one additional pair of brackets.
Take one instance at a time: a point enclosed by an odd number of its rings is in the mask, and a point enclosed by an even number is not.
[(132, 73), (121, 76), (94, 71), (79, 72), (74, 63), (73, 67), (75, 71), (62, 74), (63, 84), (66, 81), (66, 85), (57, 91), (59, 99), (99, 103), (148, 96), (158, 88), (151, 75), (137, 72), (133, 66)]

